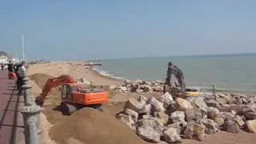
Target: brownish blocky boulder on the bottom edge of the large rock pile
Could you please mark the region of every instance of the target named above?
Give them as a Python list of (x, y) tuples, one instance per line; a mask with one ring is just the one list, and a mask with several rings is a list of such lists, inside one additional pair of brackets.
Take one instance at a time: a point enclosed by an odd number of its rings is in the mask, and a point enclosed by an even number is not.
[(202, 141), (205, 138), (206, 126), (195, 122), (188, 122), (184, 130), (184, 138)]

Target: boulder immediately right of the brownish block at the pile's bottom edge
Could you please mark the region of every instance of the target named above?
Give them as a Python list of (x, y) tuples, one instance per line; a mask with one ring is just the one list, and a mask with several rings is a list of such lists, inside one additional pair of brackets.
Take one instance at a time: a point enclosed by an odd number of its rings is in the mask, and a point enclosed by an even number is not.
[(206, 134), (214, 134), (218, 132), (218, 124), (209, 118), (203, 118), (202, 124), (206, 126)]

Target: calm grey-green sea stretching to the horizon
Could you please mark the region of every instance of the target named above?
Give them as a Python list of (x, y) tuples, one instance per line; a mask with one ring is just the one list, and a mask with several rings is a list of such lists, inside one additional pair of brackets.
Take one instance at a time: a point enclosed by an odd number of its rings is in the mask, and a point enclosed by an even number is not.
[(182, 70), (186, 86), (256, 94), (256, 54), (108, 59), (95, 70), (118, 79), (164, 81), (168, 62)]

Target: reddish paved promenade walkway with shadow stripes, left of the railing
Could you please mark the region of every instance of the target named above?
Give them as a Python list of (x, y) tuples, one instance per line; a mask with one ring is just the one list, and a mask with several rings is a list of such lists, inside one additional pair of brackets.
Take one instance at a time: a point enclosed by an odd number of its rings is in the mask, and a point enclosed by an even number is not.
[(0, 144), (25, 144), (24, 124), (19, 112), (23, 96), (18, 96), (15, 81), (0, 70)]

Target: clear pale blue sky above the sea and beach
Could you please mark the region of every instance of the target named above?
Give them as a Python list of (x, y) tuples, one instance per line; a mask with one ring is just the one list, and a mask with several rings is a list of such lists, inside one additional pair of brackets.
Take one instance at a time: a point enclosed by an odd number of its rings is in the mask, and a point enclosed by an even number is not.
[(255, 0), (0, 0), (0, 50), (127, 58), (256, 52)]

